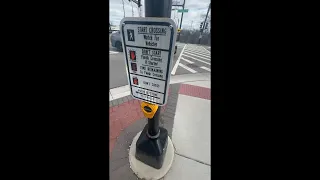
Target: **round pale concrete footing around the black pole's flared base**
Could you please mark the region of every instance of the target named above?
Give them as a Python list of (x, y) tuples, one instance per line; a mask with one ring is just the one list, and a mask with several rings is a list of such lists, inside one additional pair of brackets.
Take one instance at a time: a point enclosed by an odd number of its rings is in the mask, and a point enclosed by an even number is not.
[(136, 143), (140, 137), (141, 131), (133, 138), (132, 144), (129, 150), (129, 162), (132, 171), (140, 178), (145, 180), (157, 180), (163, 178), (173, 163), (174, 147), (170, 137), (168, 137), (167, 152), (163, 160), (163, 165), (160, 169), (155, 169), (151, 166), (144, 164), (136, 159)]

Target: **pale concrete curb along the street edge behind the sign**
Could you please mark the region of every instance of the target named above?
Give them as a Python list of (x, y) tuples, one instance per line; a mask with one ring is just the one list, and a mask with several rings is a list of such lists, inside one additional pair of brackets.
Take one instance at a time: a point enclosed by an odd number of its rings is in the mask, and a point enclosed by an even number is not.
[[(211, 81), (210, 73), (196, 73), (196, 74), (183, 74), (171, 76), (170, 84), (193, 82), (193, 81)], [(130, 86), (125, 85), (117, 88), (110, 89), (109, 101), (129, 96)]]

